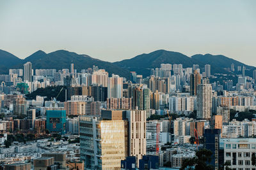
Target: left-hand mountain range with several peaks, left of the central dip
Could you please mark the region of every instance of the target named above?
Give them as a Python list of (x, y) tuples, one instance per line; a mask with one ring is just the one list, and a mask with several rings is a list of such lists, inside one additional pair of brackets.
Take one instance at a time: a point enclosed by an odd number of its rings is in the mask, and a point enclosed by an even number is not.
[[(100, 69), (106, 69), (109, 74), (119, 74), (125, 78), (129, 78), (130, 76), (127, 69), (118, 67), (111, 62), (93, 59), (88, 55), (79, 55), (66, 50), (58, 50), (51, 53), (45, 53), (42, 50), (39, 50), (32, 55), (29, 55), (29, 57), (24, 60), (3, 50), (1, 50), (1, 52), (3, 53), (0, 53), (1, 64), (4, 63), (6, 66), (0, 66), (0, 72), (4, 74), (8, 73), (8, 69), (10, 68), (23, 68), (23, 64), (29, 61), (32, 62), (33, 69), (69, 69), (70, 64), (74, 63), (74, 67), (77, 71), (81, 71), (81, 69), (87, 69), (92, 66), (98, 66)], [(13, 60), (13, 62), (8, 64), (10, 59)]]

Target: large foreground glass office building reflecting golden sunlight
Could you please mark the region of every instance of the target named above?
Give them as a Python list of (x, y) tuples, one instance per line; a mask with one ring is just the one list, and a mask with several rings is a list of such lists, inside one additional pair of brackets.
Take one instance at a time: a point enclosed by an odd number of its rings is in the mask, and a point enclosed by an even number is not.
[(84, 169), (120, 169), (127, 157), (127, 120), (80, 117), (81, 160)]

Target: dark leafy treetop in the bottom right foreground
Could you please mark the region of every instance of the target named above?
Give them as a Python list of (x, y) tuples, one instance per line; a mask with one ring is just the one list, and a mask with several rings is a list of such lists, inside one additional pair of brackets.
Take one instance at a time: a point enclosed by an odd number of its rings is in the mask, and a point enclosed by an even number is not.
[(184, 159), (180, 170), (193, 169), (194, 166), (195, 170), (213, 170), (214, 167), (208, 164), (208, 162), (211, 162), (211, 156), (211, 150), (207, 150), (205, 148), (198, 150), (196, 152), (196, 157), (193, 157), (191, 159)]

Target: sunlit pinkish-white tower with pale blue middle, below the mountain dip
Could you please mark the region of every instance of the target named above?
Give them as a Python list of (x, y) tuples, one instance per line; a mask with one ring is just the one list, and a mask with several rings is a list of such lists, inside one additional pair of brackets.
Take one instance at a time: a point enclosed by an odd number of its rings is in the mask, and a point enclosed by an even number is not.
[(108, 98), (122, 98), (123, 97), (123, 78), (112, 74), (108, 78)]

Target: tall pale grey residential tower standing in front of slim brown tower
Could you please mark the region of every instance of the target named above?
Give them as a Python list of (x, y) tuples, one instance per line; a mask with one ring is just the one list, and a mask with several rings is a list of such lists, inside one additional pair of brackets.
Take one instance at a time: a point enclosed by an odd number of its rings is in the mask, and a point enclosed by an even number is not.
[(212, 115), (212, 85), (203, 82), (196, 89), (196, 117), (210, 119)]

